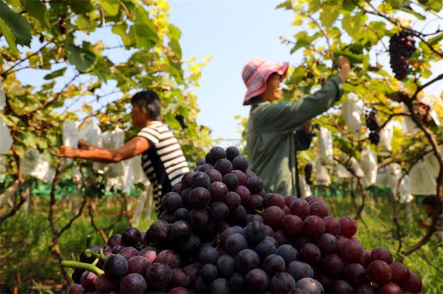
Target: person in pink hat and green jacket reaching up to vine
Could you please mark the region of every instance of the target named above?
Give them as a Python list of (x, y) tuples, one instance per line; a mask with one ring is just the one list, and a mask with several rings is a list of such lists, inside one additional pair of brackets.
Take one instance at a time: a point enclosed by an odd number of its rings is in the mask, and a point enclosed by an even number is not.
[(295, 101), (280, 101), (280, 83), (289, 64), (255, 58), (244, 66), (242, 77), (248, 90), (243, 105), (251, 105), (246, 148), (250, 168), (263, 179), (264, 190), (281, 195), (297, 195), (296, 152), (311, 144), (311, 119), (331, 108), (343, 95), (342, 83), (350, 63), (339, 57), (341, 72), (327, 80), (313, 95)]

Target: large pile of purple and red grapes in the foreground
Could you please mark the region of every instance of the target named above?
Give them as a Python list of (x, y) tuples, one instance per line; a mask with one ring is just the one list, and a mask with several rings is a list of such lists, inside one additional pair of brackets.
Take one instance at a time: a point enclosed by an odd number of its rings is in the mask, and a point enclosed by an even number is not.
[[(215, 147), (161, 201), (146, 231), (89, 246), (70, 293), (419, 293), (387, 248), (363, 248), (352, 217), (309, 196), (266, 193), (235, 147)], [(89, 253), (101, 256), (100, 262)], [(98, 263), (97, 263), (98, 262)], [(96, 264), (93, 270), (82, 265)]]

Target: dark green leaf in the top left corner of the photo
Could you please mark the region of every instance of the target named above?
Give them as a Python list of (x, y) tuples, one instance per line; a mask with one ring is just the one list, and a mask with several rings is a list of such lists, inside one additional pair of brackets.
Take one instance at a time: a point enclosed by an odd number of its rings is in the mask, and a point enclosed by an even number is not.
[(0, 1), (0, 18), (5, 21), (11, 32), (15, 35), (15, 41), (19, 45), (30, 45), (30, 25), (20, 14), (13, 12), (9, 6)]

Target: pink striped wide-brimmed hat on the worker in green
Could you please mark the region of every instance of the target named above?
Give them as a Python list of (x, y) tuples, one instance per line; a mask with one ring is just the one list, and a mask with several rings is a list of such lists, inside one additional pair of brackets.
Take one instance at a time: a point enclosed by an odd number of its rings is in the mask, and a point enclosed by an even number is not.
[(266, 59), (255, 57), (243, 68), (242, 78), (248, 88), (244, 96), (243, 105), (251, 104), (251, 98), (262, 94), (266, 90), (266, 80), (274, 72), (280, 75), (280, 81), (283, 81), (288, 71), (289, 63), (279, 62), (271, 63)]

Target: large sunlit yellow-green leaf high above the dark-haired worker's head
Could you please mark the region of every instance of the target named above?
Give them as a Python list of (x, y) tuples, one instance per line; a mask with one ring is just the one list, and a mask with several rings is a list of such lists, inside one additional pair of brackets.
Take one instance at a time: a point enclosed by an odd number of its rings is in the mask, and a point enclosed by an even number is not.
[(143, 6), (138, 6), (135, 11), (134, 33), (136, 36), (136, 46), (149, 50), (159, 41), (154, 23), (149, 18), (149, 14)]

